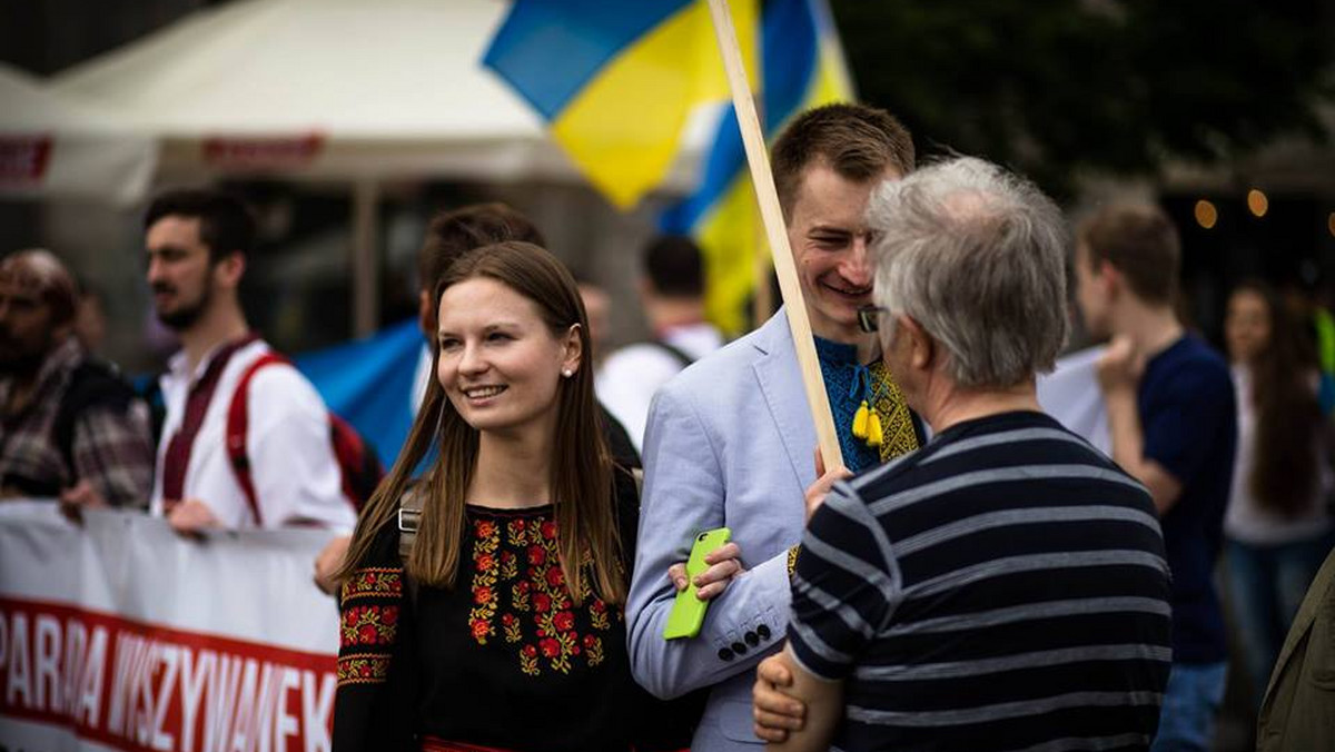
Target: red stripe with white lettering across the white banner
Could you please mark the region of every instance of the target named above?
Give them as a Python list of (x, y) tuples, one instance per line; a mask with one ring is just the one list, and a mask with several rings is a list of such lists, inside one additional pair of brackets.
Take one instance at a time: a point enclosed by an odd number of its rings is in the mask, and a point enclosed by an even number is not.
[(0, 598), (0, 715), (143, 752), (327, 752), (335, 657)]

